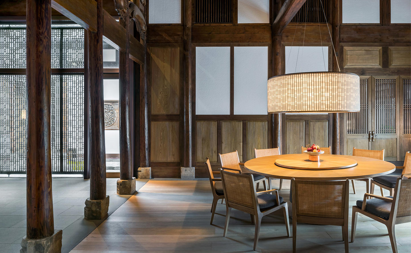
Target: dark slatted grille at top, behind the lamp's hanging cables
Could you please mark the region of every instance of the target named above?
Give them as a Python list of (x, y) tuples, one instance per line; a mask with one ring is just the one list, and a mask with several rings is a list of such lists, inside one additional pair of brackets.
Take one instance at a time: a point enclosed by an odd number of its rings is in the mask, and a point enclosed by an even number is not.
[[(327, 21), (330, 23), (330, 0), (322, 0), (324, 12), (326, 13)], [(317, 8), (318, 14), (317, 14)], [(314, 22), (314, 23), (326, 23), (324, 17), (323, 8), (321, 7), (320, 0), (307, 0), (297, 12), (296, 16), (291, 22)]]

